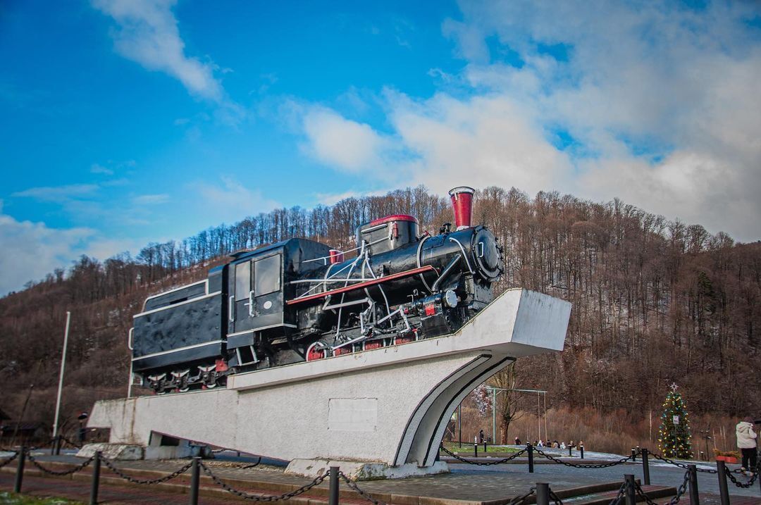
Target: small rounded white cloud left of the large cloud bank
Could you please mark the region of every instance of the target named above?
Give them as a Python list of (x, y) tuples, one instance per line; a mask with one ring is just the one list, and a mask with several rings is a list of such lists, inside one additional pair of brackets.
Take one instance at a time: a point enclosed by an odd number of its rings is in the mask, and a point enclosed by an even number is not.
[(389, 147), (370, 125), (345, 119), (320, 106), (310, 107), (304, 113), (303, 129), (307, 152), (346, 172), (377, 168), (381, 152)]

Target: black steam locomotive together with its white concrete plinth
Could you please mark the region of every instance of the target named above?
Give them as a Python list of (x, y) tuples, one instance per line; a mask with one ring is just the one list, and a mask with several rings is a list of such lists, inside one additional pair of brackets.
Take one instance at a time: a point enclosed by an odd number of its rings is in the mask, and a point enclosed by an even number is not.
[(562, 350), (571, 310), (523, 289), (495, 299), (501, 246), (471, 226), (473, 189), (450, 195), (454, 229), (390, 215), (351, 251), (285, 240), (148, 297), (129, 347), (156, 394), (97, 402), (88, 425), (146, 457), (193, 441), (304, 475), (336, 461), (358, 477), (445, 471), (457, 405), (512, 360)]

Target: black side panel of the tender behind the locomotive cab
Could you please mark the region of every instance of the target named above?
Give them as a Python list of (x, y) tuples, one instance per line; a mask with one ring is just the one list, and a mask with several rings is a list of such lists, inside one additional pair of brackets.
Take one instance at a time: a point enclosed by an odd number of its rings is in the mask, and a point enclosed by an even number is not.
[(133, 369), (218, 357), (222, 351), (223, 304), (221, 293), (204, 295), (135, 316)]

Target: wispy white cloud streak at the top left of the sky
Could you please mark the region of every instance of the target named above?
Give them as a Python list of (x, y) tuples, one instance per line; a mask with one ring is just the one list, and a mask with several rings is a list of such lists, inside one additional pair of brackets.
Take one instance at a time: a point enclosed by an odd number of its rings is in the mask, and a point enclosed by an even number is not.
[(148, 70), (177, 78), (193, 95), (219, 102), (224, 90), (214, 77), (218, 67), (186, 56), (172, 12), (175, 3), (176, 0), (93, 0), (95, 8), (118, 24), (111, 35), (119, 54)]

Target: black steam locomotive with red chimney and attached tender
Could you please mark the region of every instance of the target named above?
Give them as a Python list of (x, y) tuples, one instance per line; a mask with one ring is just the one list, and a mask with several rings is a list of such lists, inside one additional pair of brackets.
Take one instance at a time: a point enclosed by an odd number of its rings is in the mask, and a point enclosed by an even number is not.
[(133, 373), (158, 393), (213, 388), (231, 373), (457, 331), (492, 301), (503, 262), (494, 235), (470, 226), (473, 189), (450, 195), (454, 231), (421, 235), (412, 216), (390, 215), (358, 227), (352, 251), (285, 240), (148, 297), (129, 335)]

